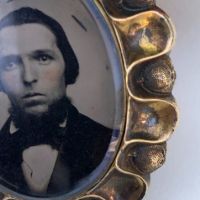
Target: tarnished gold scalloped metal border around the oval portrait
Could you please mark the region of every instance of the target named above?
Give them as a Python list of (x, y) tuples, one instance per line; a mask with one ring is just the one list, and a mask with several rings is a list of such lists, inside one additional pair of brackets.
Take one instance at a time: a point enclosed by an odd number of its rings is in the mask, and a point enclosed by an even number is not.
[[(165, 161), (177, 122), (171, 94), (176, 78), (169, 58), (174, 28), (154, 0), (94, 0), (110, 26), (124, 66), (126, 123), (106, 175), (78, 200), (139, 200), (151, 172)], [(14, 200), (3, 195), (3, 200)]]

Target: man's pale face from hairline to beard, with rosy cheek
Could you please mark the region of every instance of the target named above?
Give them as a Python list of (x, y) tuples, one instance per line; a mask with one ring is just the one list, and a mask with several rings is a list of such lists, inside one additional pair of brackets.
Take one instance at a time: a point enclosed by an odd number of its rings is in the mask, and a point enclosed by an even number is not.
[(54, 34), (40, 24), (0, 31), (0, 80), (13, 105), (41, 116), (65, 96), (65, 63)]

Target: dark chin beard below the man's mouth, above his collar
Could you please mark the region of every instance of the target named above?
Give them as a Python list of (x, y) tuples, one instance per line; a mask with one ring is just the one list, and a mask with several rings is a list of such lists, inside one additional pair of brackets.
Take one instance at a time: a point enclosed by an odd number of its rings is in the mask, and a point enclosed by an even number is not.
[(50, 105), (48, 111), (41, 116), (28, 114), (22, 108), (11, 104), (9, 113), (16, 128), (29, 132), (47, 131), (52, 130), (53, 127), (57, 127), (60, 123), (64, 122), (67, 118), (67, 110), (70, 104), (70, 99), (63, 97)]

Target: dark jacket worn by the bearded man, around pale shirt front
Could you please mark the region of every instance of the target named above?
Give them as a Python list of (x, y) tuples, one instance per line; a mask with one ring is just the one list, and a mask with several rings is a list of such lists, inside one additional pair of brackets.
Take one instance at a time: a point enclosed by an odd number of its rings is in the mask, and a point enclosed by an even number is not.
[(58, 148), (59, 155), (47, 194), (66, 193), (101, 163), (112, 135), (111, 129), (80, 114), (73, 105), (68, 108), (66, 128), (53, 130), (50, 137), (41, 137), (41, 140), (34, 141), (20, 130), (11, 135), (10, 122), (9, 118), (0, 133), (0, 181), (10, 189), (29, 195), (32, 192), (21, 169), (24, 149), (37, 144)]

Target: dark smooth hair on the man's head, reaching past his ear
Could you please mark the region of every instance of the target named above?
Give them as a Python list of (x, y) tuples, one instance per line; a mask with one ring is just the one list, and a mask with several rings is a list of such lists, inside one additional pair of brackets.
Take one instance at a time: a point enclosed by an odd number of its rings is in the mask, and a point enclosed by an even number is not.
[(12, 25), (38, 23), (46, 26), (56, 37), (57, 46), (65, 61), (65, 81), (73, 84), (79, 74), (79, 63), (62, 26), (43, 12), (30, 7), (15, 10), (0, 20), (0, 30)]

